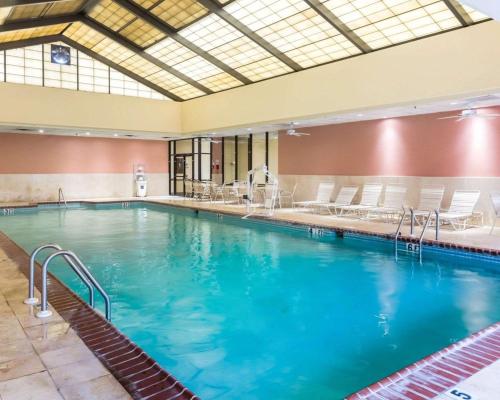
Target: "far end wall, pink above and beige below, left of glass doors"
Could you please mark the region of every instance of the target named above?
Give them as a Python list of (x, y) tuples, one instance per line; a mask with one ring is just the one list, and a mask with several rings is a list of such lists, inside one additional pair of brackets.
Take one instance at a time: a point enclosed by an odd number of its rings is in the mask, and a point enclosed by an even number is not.
[(168, 194), (162, 141), (0, 134), (0, 203), (130, 197), (134, 164), (145, 166), (148, 195)]

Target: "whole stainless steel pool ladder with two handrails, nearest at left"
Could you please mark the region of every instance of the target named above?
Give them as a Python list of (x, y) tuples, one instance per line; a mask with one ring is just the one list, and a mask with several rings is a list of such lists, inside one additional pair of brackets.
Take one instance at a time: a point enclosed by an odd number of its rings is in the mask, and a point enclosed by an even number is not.
[(48, 309), (47, 302), (47, 272), (52, 260), (60, 257), (66, 261), (66, 264), (71, 267), (89, 290), (89, 304), (92, 308), (95, 307), (94, 288), (101, 294), (104, 299), (106, 319), (111, 321), (111, 301), (106, 291), (75, 253), (69, 250), (63, 250), (61, 246), (53, 243), (40, 246), (31, 253), (28, 298), (24, 300), (24, 303), (30, 305), (38, 304), (38, 299), (35, 297), (35, 259), (38, 253), (45, 249), (53, 249), (56, 251), (49, 255), (42, 264), (42, 301), (40, 303), (40, 311), (37, 312), (36, 316), (38, 318), (47, 318), (52, 315), (52, 311)]

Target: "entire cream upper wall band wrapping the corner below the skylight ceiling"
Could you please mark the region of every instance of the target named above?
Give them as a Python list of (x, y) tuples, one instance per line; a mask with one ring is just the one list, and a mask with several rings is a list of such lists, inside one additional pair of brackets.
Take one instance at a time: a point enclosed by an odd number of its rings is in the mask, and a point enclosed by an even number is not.
[(0, 124), (209, 132), (500, 90), (491, 21), (183, 103), (0, 84)]

